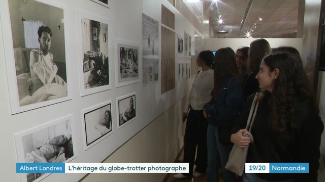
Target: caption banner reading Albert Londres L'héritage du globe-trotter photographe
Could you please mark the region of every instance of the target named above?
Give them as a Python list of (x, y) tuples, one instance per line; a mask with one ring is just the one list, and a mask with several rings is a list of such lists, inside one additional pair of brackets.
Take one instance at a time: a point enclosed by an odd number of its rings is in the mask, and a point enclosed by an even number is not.
[(188, 163), (16, 163), (16, 173), (188, 173)]

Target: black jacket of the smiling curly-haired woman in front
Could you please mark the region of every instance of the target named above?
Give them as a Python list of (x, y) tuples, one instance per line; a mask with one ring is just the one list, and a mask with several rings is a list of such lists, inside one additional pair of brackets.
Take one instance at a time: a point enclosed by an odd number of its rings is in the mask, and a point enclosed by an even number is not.
[[(298, 128), (289, 125), (283, 132), (278, 132), (272, 128), (269, 120), (271, 109), (268, 106), (268, 99), (270, 97), (271, 94), (266, 94), (259, 102), (251, 129), (254, 143), (249, 145), (246, 162), (306, 162), (309, 163), (309, 173), (306, 174), (256, 173), (256, 175), (270, 181), (296, 179), (316, 182), (320, 157), (320, 135), (323, 131), (320, 117), (313, 114), (306, 102), (296, 99), (293, 104), (293, 119), (298, 121)], [(245, 128), (253, 99), (254, 94), (248, 97), (233, 133)]]

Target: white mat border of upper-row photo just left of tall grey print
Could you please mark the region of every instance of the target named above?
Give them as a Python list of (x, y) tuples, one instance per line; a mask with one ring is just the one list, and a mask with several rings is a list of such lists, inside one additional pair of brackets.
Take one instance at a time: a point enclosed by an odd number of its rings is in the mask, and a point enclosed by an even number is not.
[[(123, 45), (129, 45), (130, 47), (138, 47), (138, 78), (134, 79), (134, 80), (129, 80), (129, 81), (122, 81), (119, 82), (118, 78), (119, 78), (119, 74), (120, 74), (120, 60), (119, 58), (119, 50), (118, 50), (118, 45), (119, 44), (123, 44)], [(138, 42), (131, 42), (131, 41), (127, 41), (127, 40), (121, 40), (121, 39), (115, 39), (115, 60), (116, 60), (116, 64), (115, 64), (115, 87), (121, 87), (121, 86), (125, 86), (125, 85), (129, 85), (129, 84), (134, 84), (134, 83), (139, 83), (142, 80), (142, 47), (141, 44)]]

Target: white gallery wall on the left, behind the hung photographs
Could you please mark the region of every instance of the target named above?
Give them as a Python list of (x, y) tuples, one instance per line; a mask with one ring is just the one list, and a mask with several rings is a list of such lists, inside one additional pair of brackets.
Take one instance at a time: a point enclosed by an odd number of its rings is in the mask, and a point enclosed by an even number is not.
[[(20, 5), (19, 1), (9, 0), (15, 4)], [(32, 1), (27, 1), (30, 3)], [(73, 136), (74, 157), (71, 158), (71, 162), (102, 162), (126, 141), (132, 138), (136, 133), (141, 131), (145, 126), (152, 122), (155, 118), (162, 113), (166, 113), (171, 107), (175, 107), (177, 102), (181, 102), (181, 99), (188, 93), (191, 79), (184, 79), (182, 81), (175, 80), (175, 88), (169, 90), (165, 94), (161, 95), (161, 82), (159, 71), (159, 80), (153, 84), (146, 84), (140, 82), (129, 84), (121, 87), (116, 87), (116, 72), (115, 64), (116, 60), (116, 47), (115, 41), (125, 40), (134, 42), (140, 45), (140, 52), (142, 47), (142, 13), (159, 21), (159, 70), (160, 65), (160, 47), (161, 47), (161, 4), (167, 7), (172, 13), (175, 14), (175, 33), (184, 34), (186, 31), (194, 40), (194, 31), (200, 32), (194, 28), (185, 17), (183, 17), (168, 1), (161, 0), (119, 0), (108, 1), (109, 8), (96, 4), (90, 0), (73, 0), (73, 1), (44, 1), (42, 3), (50, 4), (51, 6), (58, 6), (63, 9), (63, 23), (64, 23), (64, 41), (65, 41), (65, 58), (67, 66), (67, 85), (68, 85), (68, 98), (60, 100), (60, 102), (53, 102), (49, 105), (27, 109), (25, 111), (13, 112), (11, 106), (17, 105), (13, 103), (12, 90), (16, 89), (17, 83), (15, 81), (15, 65), (13, 64), (13, 40), (12, 40), (12, 28), (11, 17), (9, 13), (8, 0), (1, 0), (0, 4), (0, 81), (3, 83), (0, 90), (0, 115), (2, 116), (2, 127), (0, 129), (0, 142), (6, 146), (5, 150), (0, 152), (0, 175), (1, 180), (6, 181), (21, 181), (19, 174), (16, 173), (16, 162), (19, 161), (17, 153), (21, 153), (19, 147), (16, 148), (17, 138), (15, 135), (19, 133), (25, 133), (26, 131), (38, 130), (40, 127), (47, 127), (52, 123), (56, 123), (58, 119), (62, 117), (71, 117), (71, 129)], [(18, 6), (17, 5), (17, 6)], [(46, 10), (44, 9), (46, 12)], [(82, 49), (82, 43), (79, 39), (79, 12), (86, 12), (89, 16), (100, 17), (108, 20), (107, 41), (108, 41), (108, 56), (109, 56), (109, 84), (110, 89), (96, 92), (90, 95), (81, 97), (80, 85), (83, 84), (80, 80), (80, 75), (83, 74), (79, 69), (80, 62), (82, 62), (82, 55), (80, 49)], [(43, 10), (35, 12), (29, 11), (29, 13), (35, 13), (36, 17), (42, 17), (45, 15)], [(38, 16), (39, 14), (39, 16)], [(15, 20), (21, 23), (22, 17), (16, 16)], [(25, 17), (24, 17), (25, 18)], [(26, 18), (25, 18), (26, 19)], [(54, 25), (53, 25), (54, 26)], [(17, 34), (20, 35), (20, 33)], [(200, 34), (200, 33), (199, 33)], [(200, 34), (202, 36), (202, 34)], [(80, 36), (81, 37), (81, 36)], [(53, 37), (54, 38), (54, 37)], [(101, 42), (102, 44), (102, 42)], [(176, 44), (176, 40), (175, 40)], [(192, 42), (191, 52), (194, 52), (194, 43)], [(176, 47), (176, 46), (175, 46)], [(53, 47), (52, 47), (53, 48)], [(101, 46), (101, 49), (104, 48)], [(190, 63), (189, 57), (176, 57), (175, 50), (175, 63), (187, 62)], [(142, 61), (140, 57), (140, 62)], [(172, 70), (171, 70), (172, 71)], [(14, 86), (13, 86), (14, 85)], [(12, 97), (9, 97), (11, 93)], [(136, 119), (128, 122), (125, 126), (118, 129), (118, 116), (117, 116), (117, 101), (116, 98), (125, 96), (130, 93), (136, 93)], [(53, 100), (56, 101), (56, 100)], [(112, 131), (103, 140), (96, 143), (94, 146), (85, 150), (84, 139), (84, 125), (82, 111), (110, 101), (112, 112)], [(17, 102), (17, 100), (16, 100)], [(182, 108), (183, 106), (179, 106)], [(180, 110), (177, 110), (180, 111)], [(173, 117), (174, 121), (177, 121), (180, 117), (180, 113), (167, 112), (167, 115), (163, 116), (164, 119)], [(163, 122), (163, 120), (161, 120)], [(46, 125), (44, 125), (46, 124)], [(172, 162), (175, 154), (178, 151), (181, 144), (181, 134), (179, 134), (179, 128), (182, 128), (179, 122), (170, 123), (174, 124), (174, 136), (176, 139), (171, 145), (170, 150), (161, 153), (172, 153), (165, 161)], [(169, 128), (166, 128), (168, 130)], [(164, 131), (164, 130), (161, 130)], [(151, 137), (151, 134), (157, 134), (157, 132), (146, 133), (145, 137)], [(161, 133), (163, 134), (163, 133)], [(154, 142), (154, 141), (152, 141)], [(136, 146), (134, 146), (136, 147)], [(150, 147), (148, 145), (148, 147)], [(27, 148), (27, 147), (25, 147)], [(127, 154), (125, 154), (127, 155)], [(18, 160), (19, 159), (19, 160)], [(165, 162), (161, 161), (161, 162)], [(116, 161), (119, 162), (119, 161)], [(148, 161), (150, 162), (150, 161)], [(159, 162), (159, 161), (154, 161)], [(50, 174), (43, 181), (77, 181), (81, 179), (85, 174)], [(22, 177), (23, 178), (23, 177)], [(23, 180), (22, 180), (23, 181)]]

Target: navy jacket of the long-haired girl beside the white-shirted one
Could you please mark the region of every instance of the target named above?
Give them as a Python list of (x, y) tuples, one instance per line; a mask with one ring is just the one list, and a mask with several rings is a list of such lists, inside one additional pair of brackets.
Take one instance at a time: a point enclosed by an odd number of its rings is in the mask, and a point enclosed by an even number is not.
[(217, 98), (212, 99), (204, 106), (205, 112), (211, 115), (208, 123), (218, 125), (220, 120), (235, 119), (242, 105), (243, 89), (240, 82), (235, 77), (223, 79), (217, 92)]

